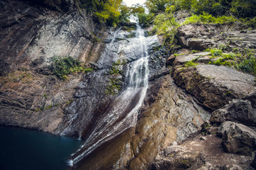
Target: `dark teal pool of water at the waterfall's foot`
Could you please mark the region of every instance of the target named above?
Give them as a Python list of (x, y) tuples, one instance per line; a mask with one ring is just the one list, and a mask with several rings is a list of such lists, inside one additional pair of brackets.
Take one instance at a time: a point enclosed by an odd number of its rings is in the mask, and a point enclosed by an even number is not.
[(70, 137), (0, 126), (0, 169), (69, 169), (67, 159), (81, 145)]

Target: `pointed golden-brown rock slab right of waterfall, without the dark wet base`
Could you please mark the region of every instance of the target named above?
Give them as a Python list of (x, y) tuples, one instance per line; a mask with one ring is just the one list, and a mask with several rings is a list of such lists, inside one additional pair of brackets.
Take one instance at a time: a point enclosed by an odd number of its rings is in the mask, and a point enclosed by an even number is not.
[(135, 158), (130, 161), (130, 169), (147, 169), (160, 149), (196, 132), (209, 115), (169, 75), (165, 76), (155, 102), (140, 115), (138, 135), (132, 142)]

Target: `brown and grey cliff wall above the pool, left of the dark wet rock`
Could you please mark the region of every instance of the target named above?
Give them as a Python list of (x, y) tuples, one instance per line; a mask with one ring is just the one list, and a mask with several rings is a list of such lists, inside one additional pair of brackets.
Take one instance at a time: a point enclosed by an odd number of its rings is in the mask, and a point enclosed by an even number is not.
[(107, 32), (74, 1), (0, 1), (1, 125), (60, 133), (65, 107), (82, 75), (60, 81), (50, 73), (55, 56), (95, 62)]

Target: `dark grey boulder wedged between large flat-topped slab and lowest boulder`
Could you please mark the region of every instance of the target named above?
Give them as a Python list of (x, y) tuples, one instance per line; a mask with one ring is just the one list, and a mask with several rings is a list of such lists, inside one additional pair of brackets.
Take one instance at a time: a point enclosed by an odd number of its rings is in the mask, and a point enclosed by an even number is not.
[(211, 122), (223, 123), (227, 120), (244, 125), (256, 125), (256, 111), (250, 101), (233, 99), (228, 105), (211, 113)]

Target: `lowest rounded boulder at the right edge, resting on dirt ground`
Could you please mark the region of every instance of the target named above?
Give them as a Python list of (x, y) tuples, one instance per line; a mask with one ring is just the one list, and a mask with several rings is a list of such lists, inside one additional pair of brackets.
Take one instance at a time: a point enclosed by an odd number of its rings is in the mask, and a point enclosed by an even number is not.
[(256, 132), (245, 125), (227, 121), (218, 129), (223, 149), (233, 154), (249, 155), (256, 149)]

